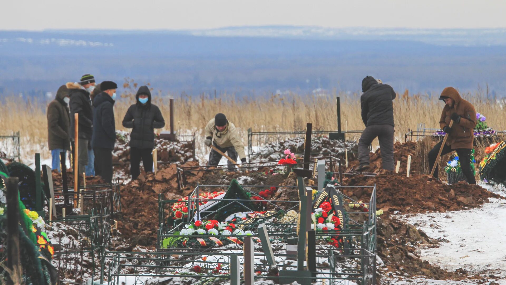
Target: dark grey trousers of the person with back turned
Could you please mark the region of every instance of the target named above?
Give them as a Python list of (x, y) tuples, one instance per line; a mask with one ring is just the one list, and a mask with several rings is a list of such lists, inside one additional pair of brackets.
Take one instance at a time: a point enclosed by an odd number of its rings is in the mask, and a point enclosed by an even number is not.
[(369, 146), (374, 138), (379, 140), (379, 150), (383, 161), (383, 169), (394, 170), (394, 126), (367, 126), (358, 140), (358, 160), (360, 165), (369, 165)]

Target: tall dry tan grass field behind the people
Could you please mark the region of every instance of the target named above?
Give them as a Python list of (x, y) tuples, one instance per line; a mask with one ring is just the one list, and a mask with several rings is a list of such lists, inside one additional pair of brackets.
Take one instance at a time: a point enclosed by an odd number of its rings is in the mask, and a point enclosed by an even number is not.
[[(121, 98), (114, 105), (117, 129), (124, 129), (121, 121), (126, 110), (135, 101), (138, 86), (125, 83), (124, 87), (129, 91), (121, 94)], [(487, 117), (489, 126), (495, 130), (506, 129), (503, 101), (489, 99), (482, 90), (461, 95), (474, 104), (477, 112)], [(216, 113), (224, 113), (241, 129), (244, 141), (249, 127), (254, 131), (296, 130), (304, 129), (309, 122), (313, 123), (313, 128), (336, 130), (336, 96), (341, 98), (343, 130), (362, 130), (364, 125), (360, 117), (360, 94), (336, 92), (325, 96), (289, 94), (254, 99), (234, 94), (220, 94), (216, 97), (214, 94), (197, 97), (175, 95), (175, 127), (180, 133), (197, 131), (199, 135)], [(153, 102), (159, 106), (167, 122), (163, 130), (168, 130), (168, 96), (158, 95), (153, 91)], [(49, 101), (25, 101), (19, 97), (4, 98), (0, 103), (1, 134), (19, 130), (22, 145), (37, 146), (37, 150), (49, 155), (46, 119), (48, 103)], [(394, 100), (396, 139), (403, 141), (404, 133), (408, 129), (416, 129), (418, 123), (425, 123), (427, 128), (438, 128), (443, 106), (444, 103), (435, 96), (409, 94), (407, 90), (398, 94)]]

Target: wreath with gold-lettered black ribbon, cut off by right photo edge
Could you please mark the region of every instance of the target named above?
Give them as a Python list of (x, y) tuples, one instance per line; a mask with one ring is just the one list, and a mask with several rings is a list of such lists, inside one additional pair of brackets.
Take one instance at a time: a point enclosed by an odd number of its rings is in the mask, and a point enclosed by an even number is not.
[(487, 156), (480, 162), (480, 176), (486, 183), (506, 185), (506, 141), (485, 149)]

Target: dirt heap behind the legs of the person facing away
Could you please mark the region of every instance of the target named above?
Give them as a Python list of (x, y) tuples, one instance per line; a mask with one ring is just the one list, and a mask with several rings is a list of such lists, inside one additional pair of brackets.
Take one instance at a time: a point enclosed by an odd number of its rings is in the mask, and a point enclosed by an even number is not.
[[(401, 143), (397, 141), (394, 144), (394, 163), (397, 164), (399, 160), (401, 162), (401, 166), (399, 168), (399, 173), (406, 174), (407, 170), (407, 157), (411, 156), (411, 167), (409, 168), (409, 173), (419, 174), (420, 173), (420, 159), (419, 156), (416, 155), (417, 144), (414, 141), (408, 141)], [(370, 170), (368, 172), (378, 173), (382, 169), (383, 160), (381, 158), (381, 149), (377, 149), (375, 153), (370, 153)], [(348, 160), (348, 170), (356, 169), (359, 166), (358, 160), (350, 161)]]

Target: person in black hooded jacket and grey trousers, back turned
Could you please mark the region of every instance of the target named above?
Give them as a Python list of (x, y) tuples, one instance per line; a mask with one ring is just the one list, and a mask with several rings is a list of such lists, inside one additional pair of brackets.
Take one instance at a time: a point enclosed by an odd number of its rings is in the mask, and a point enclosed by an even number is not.
[(362, 121), (365, 129), (358, 142), (357, 171), (369, 168), (369, 146), (374, 138), (379, 140), (383, 168), (394, 170), (394, 89), (380, 80), (367, 76), (362, 80)]

